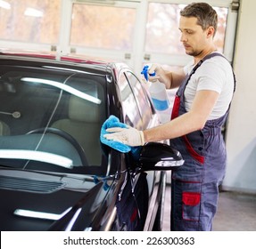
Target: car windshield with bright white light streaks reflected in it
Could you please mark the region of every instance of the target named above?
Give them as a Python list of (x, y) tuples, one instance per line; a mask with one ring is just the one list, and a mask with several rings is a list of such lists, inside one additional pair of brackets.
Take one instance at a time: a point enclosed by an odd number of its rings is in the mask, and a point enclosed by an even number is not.
[(105, 76), (67, 68), (0, 68), (0, 165), (103, 167)]

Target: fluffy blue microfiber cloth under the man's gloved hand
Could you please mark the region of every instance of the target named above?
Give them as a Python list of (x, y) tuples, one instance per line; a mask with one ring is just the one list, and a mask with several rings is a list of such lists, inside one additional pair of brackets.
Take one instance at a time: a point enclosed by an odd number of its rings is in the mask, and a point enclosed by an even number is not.
[(100, 140), (103, 144), (108, 145), (112, 149), (117, 149), (118, 151), (122, 153), (128, 153), (131, 152), (133, 157), (138, 158), (141, 146), (138, 147), (131, 147), (126, 144), (121, 143), (120, 141), (109, 141), (106, 138), (104, 138), (104, 134), (107, 134), (108, 132), (106, 129), (111, 127), (120, 127), (120, 128), (127, 128), (128, 125), (121, 123), (120, 119), (116, 116), (109, 116), (109, 118), (103, 123), (102, 129), (101, 129), (101, 136)]

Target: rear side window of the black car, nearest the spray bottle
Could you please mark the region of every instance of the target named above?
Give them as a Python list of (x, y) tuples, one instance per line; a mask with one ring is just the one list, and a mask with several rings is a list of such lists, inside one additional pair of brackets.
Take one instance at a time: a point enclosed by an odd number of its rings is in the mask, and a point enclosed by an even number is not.
[(147, 125), (153, 116), (152, 106), (145, 92), (145, 89), (138, 78), (129, 71), (126, 72), (126, 76), (128, 77), (128, 82), (134, 92), (140, 114), (143, 118), (143, 128), (145, 129), (147, 128)]

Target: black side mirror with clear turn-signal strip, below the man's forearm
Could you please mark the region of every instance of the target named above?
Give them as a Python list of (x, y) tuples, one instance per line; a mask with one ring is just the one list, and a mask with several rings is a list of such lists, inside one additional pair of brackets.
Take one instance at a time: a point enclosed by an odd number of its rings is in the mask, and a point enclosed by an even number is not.
[(159, 142), (149, 142), (141, 149), (138, 166), (143, 171), (175, 170), (184, 164), (177, 149)]

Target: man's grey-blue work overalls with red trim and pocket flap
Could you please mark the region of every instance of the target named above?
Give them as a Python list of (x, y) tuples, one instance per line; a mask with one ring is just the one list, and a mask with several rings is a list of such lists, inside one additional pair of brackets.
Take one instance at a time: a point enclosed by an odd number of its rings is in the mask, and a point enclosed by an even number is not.
[[(186, 113), (184, 100), (186, 84), (202, 62), (213, 56), (222, 55), (211, 53), (186, 76), (178, 88), (171, 119)], [(226, 173), (227, 153), (221, 126), (227, 119), (227, 113), (217, 119), (208, 120), (202, 130), (170, 140), (170, 145), (178, 149), (185, 160), (185, 164), (171, 175), (171, 230), (173, 231), (211, 230), (217, 209), (219, 184)]]

